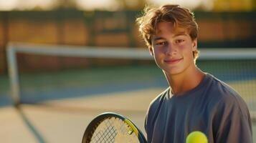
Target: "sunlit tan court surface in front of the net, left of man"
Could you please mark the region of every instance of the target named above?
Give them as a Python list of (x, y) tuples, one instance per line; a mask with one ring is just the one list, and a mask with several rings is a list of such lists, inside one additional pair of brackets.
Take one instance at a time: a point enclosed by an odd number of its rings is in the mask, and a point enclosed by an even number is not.
[(1, 142), (82, 142), (87, 124), (103, 112), (117, 112), (143, 130), (146, 109), (163, 89), (97, 94), (40, 104), (0, 108)]

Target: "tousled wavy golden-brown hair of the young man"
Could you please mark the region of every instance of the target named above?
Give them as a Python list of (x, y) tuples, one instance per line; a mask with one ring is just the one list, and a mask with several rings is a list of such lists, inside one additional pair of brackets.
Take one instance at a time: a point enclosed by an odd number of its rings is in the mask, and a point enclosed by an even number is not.
[[(198, 25), (194, 19), (194, 13), (179, 5), (168, 4), (158, 8), (146, 6), (143, 16), (138, 17), (136, 22), (147, 46), (152, 46), (151, 38), (156, 35), (156, 26), (160, 22), (171, 22), (174, 28), (186, 29), (192, 40), (198, 37)], [(196, 60), (199, 51), (193, 51), (193, 56)]]

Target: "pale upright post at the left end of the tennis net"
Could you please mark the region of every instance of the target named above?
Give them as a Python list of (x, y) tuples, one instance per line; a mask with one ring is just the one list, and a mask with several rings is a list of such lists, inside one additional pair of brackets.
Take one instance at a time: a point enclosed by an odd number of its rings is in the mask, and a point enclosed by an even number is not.
[(14, 44), (8, 44), (6, 50), (9, 82), (10, 82), (10, 96), (15, 107), (20, 104), (20, 87), (19, 87), (19, 74), (16, 61), (16, 49)]

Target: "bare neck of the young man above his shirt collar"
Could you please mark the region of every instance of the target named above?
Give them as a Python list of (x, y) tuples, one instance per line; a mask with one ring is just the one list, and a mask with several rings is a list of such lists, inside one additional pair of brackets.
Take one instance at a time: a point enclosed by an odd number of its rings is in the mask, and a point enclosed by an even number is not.
[(204, 72), (195, 66), (189, 72), (185, 71), (175, 75), (166, 74), (166, 79), (169, 82), (173, 94), (183, 94), (198, 86), (202, 82), (202, 79), (204, 79), (204, 75)]

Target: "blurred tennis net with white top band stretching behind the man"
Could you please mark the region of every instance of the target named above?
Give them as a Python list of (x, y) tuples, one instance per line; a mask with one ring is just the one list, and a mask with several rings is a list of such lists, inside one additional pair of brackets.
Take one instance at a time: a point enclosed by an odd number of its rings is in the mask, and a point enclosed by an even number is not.
[[(255, 116), (256, 49), (199, 50), (197, 66), (236, 89)], [(14, 104), (168, 86), (146, 48), (11, 43), (7, 57)]]

